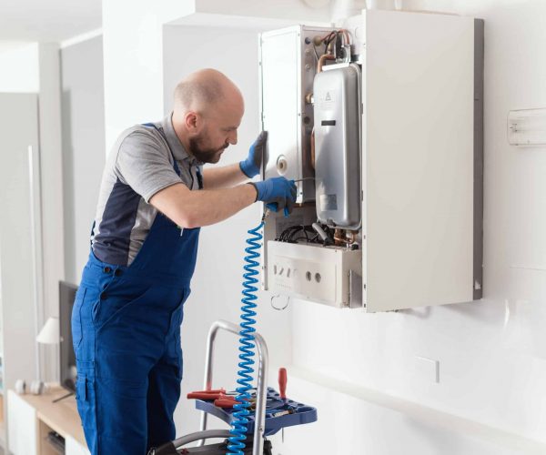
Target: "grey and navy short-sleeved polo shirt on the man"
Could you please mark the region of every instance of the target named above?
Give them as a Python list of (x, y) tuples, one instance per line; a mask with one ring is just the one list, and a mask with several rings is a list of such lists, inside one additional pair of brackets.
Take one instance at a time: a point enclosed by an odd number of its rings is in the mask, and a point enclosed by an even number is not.
[(136, 258), (157, 216), (148, 202), (158, 191), (180, 182), (192, 190), (202, 187), (202, 163), (178, 140), (171, 116), (154, 124), (159, 130), (126, 129), (108, 156), (91, 233), (93, 252), (103, 262), (126, 266)]

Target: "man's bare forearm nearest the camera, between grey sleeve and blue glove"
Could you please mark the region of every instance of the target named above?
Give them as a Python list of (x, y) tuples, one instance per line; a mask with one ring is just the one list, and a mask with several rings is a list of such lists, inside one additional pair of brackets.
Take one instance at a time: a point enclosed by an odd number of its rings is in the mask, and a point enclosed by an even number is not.
[(150, 203), (180, 227), (202, 227), (235, 215), (255, 202), (256, 194), (252, 185), (189, 191), (177, 184), (161, 190)]

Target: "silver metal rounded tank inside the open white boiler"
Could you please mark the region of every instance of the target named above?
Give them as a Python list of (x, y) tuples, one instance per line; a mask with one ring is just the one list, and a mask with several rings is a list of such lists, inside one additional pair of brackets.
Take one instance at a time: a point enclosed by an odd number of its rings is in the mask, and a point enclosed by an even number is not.
[(356, 64), (325, 66), (315, 76), (315, 185), (319, 221), (359, 229), (360, 69)]

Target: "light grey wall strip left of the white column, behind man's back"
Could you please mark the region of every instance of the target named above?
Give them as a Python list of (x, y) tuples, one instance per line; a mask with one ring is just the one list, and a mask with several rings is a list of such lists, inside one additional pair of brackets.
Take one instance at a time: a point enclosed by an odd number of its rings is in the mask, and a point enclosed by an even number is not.
[(78, 283), (105, 165), (102, 36), (61, 49), (65, 276)]

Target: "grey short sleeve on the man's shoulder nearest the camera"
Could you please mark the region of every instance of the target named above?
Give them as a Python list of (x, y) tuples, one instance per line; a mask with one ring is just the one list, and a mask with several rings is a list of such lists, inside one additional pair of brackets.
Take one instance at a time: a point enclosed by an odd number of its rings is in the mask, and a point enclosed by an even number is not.
[(149, 202), (161, 189), (184, 183), (171, 160), (166, 144), (159, 137), (152, 132), (132, 131), (119, 146), (116, 176)]

